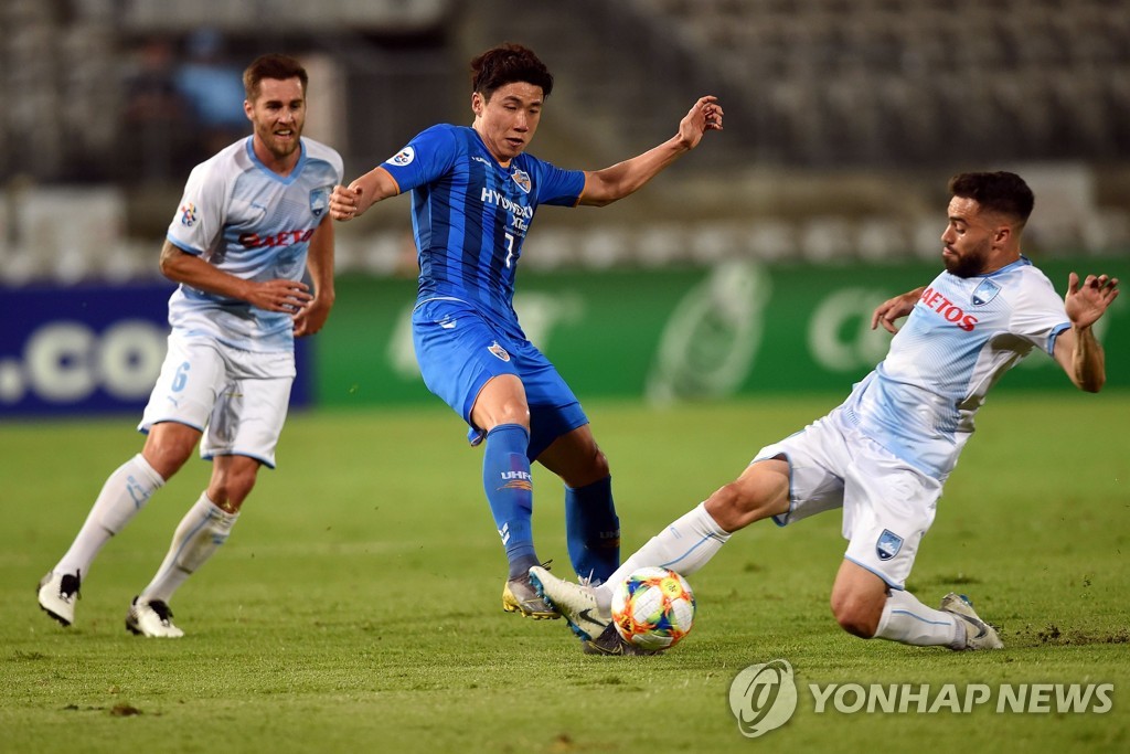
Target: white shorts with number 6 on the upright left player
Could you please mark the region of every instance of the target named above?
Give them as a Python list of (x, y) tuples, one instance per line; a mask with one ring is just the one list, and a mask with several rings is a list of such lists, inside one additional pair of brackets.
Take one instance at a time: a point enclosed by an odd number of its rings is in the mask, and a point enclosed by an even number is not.
[(293, 353), (237, 350), (174, 332), (138, 430), (186, 424), (203, 432), (202, 458), (247, 456), (275, 468), (294, 376)]

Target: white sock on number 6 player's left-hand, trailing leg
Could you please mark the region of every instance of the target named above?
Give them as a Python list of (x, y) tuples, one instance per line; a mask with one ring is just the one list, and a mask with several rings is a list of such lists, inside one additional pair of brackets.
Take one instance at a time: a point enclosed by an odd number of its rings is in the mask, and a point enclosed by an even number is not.
[(102, 492), (90, 508), (86, 522), (71, 543), (70, 549), (55, 565), (55, 573), (80, 573), (86, 578), (90, 563), (110, 538), (125, 528), (145, 508), (153, 493), (165, 480), (138, 453), (118, 467), (102, 485)]

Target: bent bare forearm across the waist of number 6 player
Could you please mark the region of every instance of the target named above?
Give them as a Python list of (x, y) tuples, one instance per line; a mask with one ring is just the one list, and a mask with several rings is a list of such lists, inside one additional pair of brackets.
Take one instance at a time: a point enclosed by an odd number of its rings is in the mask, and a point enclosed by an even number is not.
[(245, 280), (224, 272), (167, 240), (160, 250), (160, 272), (174, 283), (238, 298), (271, 312), (297, 312), (313, 298), (310, 286), (301, 280)]

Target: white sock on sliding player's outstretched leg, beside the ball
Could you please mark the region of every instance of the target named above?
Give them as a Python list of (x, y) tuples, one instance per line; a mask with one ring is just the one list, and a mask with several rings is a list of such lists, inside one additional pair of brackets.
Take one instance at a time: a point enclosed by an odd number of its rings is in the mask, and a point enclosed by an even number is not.
[(597, 605), (603, 610), (611, 609), (614, 589), (635, 571), (649, 565), (671, 569), (683, 575), (690, 575), (722, 548), (730, 532), (718, 525), (706, 512), (706, 503), (699, 503), (689, 513), (669, 525), (652, 537), (646, 545), (633, 553), (608, 581), (596, 588)]

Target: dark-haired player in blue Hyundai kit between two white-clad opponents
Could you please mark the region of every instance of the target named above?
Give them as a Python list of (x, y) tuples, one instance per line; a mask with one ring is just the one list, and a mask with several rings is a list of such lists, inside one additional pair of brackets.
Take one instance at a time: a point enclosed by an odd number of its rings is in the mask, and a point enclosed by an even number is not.
[(420, 268), (412, 317), (424, 381), (484, 442), (483, 485), (510, 561), (503, 608), (558, 617), (530, 586), (538, 461), (565, 483), (570, 558), (600, 583), (619, 564), (619, 520), (608, 460), (554, 365), (525, 338), (514, 313), (514, 276), (539, 205), (605, 206), (636, 191), (703, 135), (722, 130), (722, 109), (698, 99), (663, 144), (611, 167), (566, 171), (525, 153), (554, 79), (529, 49), (503, 44), (471, 61), (470, 127), (441, 124), (386, 162), (336, 187), (339, 220), (406, 191)]

